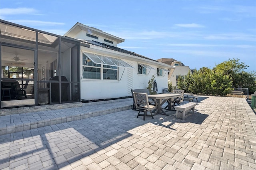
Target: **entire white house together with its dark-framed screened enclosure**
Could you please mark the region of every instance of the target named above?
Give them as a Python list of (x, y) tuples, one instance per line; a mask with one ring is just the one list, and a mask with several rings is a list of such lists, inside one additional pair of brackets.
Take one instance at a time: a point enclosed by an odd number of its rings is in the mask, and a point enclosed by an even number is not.
[(121, 42), (80, 23), (58, 36), (0, 20), (0, 115), (6, 108), (132, 96), (152, 75), (162, 93), (174, 67), (118, 48)]

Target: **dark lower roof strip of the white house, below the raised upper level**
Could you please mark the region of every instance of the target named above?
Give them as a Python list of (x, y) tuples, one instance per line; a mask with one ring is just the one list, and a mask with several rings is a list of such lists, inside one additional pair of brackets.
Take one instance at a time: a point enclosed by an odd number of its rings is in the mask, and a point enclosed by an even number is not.
[(134, 56), (136, 56), (136, 57), (140, 57), (140, 58), (143, 58), (143, 59), (149, 59), (149, 60), (151, 60), (151, 61), (159, 62), (159, 61), (157, 61), (157, 60), (154, 60), (154, 59), (145, 57), (145, 56), (143, 56), (143, 55), (134, 53), (134, 52), (132, 52), (132, 51), (128, 51), (128, 50), (125, 50), (125, 49), (122, 49), (122, 48), (114, 47), (114, 46), (112, 46), (112, 45), (108, 45), (108, 44), (105, 44), (105, 43), (100, 43), (100, 42), (96, 42), (96, 41), (88, 41), (88, 40), (81, 40), (81, 42), (83, 42), (83, 43), (88, 43), (88, 44), (90, 44), (90, 45), (96, 45), (96, 46), (98, 46), (98, 47), (102, 47), (102, 48), (106, 48), (106, 49), (111, 49), (111, 50), (118, 51), (118, 52), (121, 52), (121, 53), (126, 53), (126, 54), (129, 54), (129, 55), (134, 55)]

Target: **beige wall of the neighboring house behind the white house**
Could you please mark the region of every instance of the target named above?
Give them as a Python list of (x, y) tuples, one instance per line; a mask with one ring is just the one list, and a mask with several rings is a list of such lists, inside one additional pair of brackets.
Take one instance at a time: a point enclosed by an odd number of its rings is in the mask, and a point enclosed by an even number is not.
[(175, 69), (170, 71), (171, 75), (170, 75), (169, 81), (172, 83), (173, 86), (177, 86), (176, 85), (176, 76), (178, 76), (178, 75), (184, 76), (184, 75), (188, 74), (188, 71), (190, 71), (190, 73), (192, 73), (192, 72), (188, 66), (177, 65), (174, 67), (175, 67)]

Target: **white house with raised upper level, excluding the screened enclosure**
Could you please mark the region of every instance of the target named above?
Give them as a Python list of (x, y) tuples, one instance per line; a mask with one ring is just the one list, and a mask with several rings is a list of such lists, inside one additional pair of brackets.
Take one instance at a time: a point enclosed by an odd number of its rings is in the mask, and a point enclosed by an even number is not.
[(152, 75), (158, 93), (168, 87), (168, 64), (121, 49), (124, 39), (76, 23), (64, 36), (81, 41), (81, 99), (131, 96), (131, 89), (145, 89)]

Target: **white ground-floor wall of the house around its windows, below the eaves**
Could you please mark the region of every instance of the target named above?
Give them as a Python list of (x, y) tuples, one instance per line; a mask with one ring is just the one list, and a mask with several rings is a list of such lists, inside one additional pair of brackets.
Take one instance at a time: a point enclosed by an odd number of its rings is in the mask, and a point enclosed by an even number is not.
[[(81, 50), (84, 51), (86, 48), (81, 47)], [(99, 52), (102, 53), (103, 51)], [(82, 63), (82, 57), (80, 57), (80, 59)], [(151, 79), (152, 75), (155, 75), (155, 80), (158, 85), (157, 93), (162, 93), (162, 89), (168, 87), (168, 73), (164, 71), (163, 77), (157, 76), (156, 65), (150, 65), (154, 68), (154, 70), (148, 69), (148, 75), (141, 75), (138, 74), (137, 61), (131, 61), (127, 59), (122, 60), (134, 68), (119, 67), (118, 80), (95, 80), (81, 78), (81, 99), (94, 100), (132, 96), (131, 89), (146, 89), (146, 87), (148, 87), (148, 81)], [(80, 75), (82, 75), (82, 73), (83, 70), (81, 67)]]

